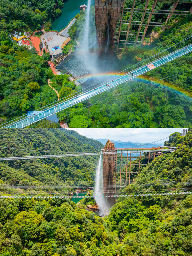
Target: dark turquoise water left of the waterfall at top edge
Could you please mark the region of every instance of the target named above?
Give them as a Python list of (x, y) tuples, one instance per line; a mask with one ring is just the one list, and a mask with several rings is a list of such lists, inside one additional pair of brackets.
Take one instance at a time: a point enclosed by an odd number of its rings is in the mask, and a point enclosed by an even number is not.
[(72, 20), (76, 14), (79, 13), (79, 5), (86, 5), (87, 0), (68, 0), (64, 2), (64, 7), (61, 8), (61, 16), (52, 22), (52, 30), (64, 29), (70, 20)]

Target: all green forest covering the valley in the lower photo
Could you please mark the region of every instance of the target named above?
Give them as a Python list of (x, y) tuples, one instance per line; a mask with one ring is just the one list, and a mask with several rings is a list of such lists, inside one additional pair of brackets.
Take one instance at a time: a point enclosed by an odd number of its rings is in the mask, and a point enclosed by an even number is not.
[[(2, 140), (2, 137), (5, 140)], [(48, 144), (45, 143), (47, 137), (49, 137)], [(14, 144), (13, 139), (16, 139), (17, 144)], [(72, 139), (74, 144), (69, 143)], [(192, 131), (188, 131), (185, 136), (175, 132), (164, 144), (177, 148), (172, 153), (156, 157), (146, 167), (142, 167), (140, 174), (134, 177), (133, 183), (122, 191), (123, 194), (174, 193), (191, 190)], [(36, 154), (38, 150), (75, 151), (74, 145), (77, 145), (76, 152), (92, 147), (99, 150), (102, 146), (97, 141), (87, 139), (74, 131), (59, 129), (7, 130), (7, 135), (3, 130), (1, 145), (4, 146), (4, 148), (1, 146), (1, 156), (5, 154), (8, 156), (7, 152), (16, 156), (13, 148), (16, 146), (35, 149)], [(22, 154), (20, 150), (18, 155)], [(84, 161), (79, 158), (78, 164), (88, 169), (91, 166), (94, 168), (98, 161), (91, 157), (86, 158), (89, 161), (89, 167), (86, 167), (88, 161), (83, 159)], [(1, 164), (1, 195), (35, 193), (42, 195), (44, 191), (48, 192), (46, 185), (51, 184), (51, 179), (54, 177), (56, 180), (56, 176), (61, 176), (61, 167), (53, 168), (53, 164), (56, 165), (56, 158), (41, 160), (44, 162), (33, 160), (33, 164), (31, 160), (22, 161), (19, 164), (16, 164), (16, 161)], [(60, 159), (59, 166), (62, 165), (64, 170), (65, 166), (70, 164), (70, 169), (75, 169), (75, 161), (65, 158), (64, 163)], [(41, 170), (44, 180), (40, 177)], [(65, 169), (65, 173), (67, 171)], [(46, 176), (46, 172), (49, 176)], [(80, 173), (78, 169), (73, 179), (77, 180)], [(62, 186), (64, 184), (66, 186), (67, 175), (60, 178), (63, 181)], [(41, 181), (44, 187), (41, 191), (35, 191), (35, 186), (27, 187), (27, 179), (28, 184), (33, 182), (38, 183), (39, 186)], [(16, 186), (19, 180), (22, 181), (19, 182), (21, 187)], [(53, 193), (64, 194), (56, 189)], [(90, 198), (85, 198), (78, 204), (70, 198), (0, 198), (0, 255), (190, 256), (192, 254), (191, 194), (120, 197), (105, 218), (85, 210), (86, 204), (90, 203), (94, 203)]]

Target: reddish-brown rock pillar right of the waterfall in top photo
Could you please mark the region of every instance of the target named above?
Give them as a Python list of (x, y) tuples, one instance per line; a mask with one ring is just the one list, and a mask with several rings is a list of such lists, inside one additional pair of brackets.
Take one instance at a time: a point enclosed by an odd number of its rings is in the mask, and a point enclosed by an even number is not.
[(123, 0), (95, 0), (95, 26), (99, 53), (113, 53), (115, 29)]

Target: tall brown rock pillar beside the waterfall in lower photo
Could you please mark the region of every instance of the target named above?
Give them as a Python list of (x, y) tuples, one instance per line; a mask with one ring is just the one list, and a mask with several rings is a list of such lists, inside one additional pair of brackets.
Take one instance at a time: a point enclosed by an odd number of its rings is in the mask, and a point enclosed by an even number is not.
[[(107, 140), (107, 143), (102, 149), (102, 152), (109, 152), (107, 155), (103, 155), (103, 194), (104, 196), (113, 195), (113, 178), (116, 168), (116, 154), (110, 154), (110, 152), (116, 152), (114, 143)], [(107, 199), (110, 207), (115, 203), (114, 197)]]

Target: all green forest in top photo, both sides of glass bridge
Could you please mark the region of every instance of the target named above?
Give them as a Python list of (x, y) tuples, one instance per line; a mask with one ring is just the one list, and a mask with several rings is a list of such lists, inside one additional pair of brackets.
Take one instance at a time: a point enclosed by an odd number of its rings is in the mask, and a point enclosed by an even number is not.
[[(126, 1), (125, 4), (127, 8), (130, 8), (131, 1)], [(151, 5), (152, 1), (150, 1), (149, 7)], [(185, 5), (188, 3), (183, 4), (182, 7), (179, 5), (179, 8), (182, 10)], [(9, 37), (10, 33), (14, 31), (32, 33), (35, 29), (40, 29), (43, 22), (45, 29), (49, 29), (51, 21), (60, 13), (62, 6), (61, 1), (49, 1), (48, 4), (46, 0), (34, 3), (10, 0), (0, 2), (1, 124), (23, 116), (27, 111), (38, 110), (51, 102), (55, 102), (57, 95), (48, 86), (48, 78), (59, 92), (60, 99), (68, 98), (71, 94), (74, 96), (81, 89), (80, 86), (75, 86), (73, 82), (70, 82), (67, 75), (53, 75), (47, 64), (50, 57), (48, 53), (38, 56), (34, 48), (29, 50), (24, 45), (18, 46)], [(143, 1), (136, 1), (136, 7), (142, 8), (142, 6)], [(159, 3), (157, 7), (164, 8), (164, 3)], [(91, 15), (90, 22), (94, 24), (93, 7), (91, 8)], [(128, 46), (122, 58), (115, 60), (118, 69), (123, 70), (138, 64), (136, 57), (143, 61), (190, 36), (192, 34), (191, 17), (190, 14), (177, 18), (173, 16), (169, 23), (170, 27), (159, 33), (160, 37), (150, 45), (135, 48)], [(69, 30), (72, 40), (75, 38), (79, 40), (82, 37), (85, 11), (80, 11), (76, 18), (76, 22)], [(127, 15), (125, 19), (128, 18)], [(158, 16), (154, 16), (154, 19), (161, 22)], [(94, 40), (95, 31), (90, 33), (92, 40)], [(163, 54), (190, 43), (190, 39), (186, 40)], [(111, 89), (89, 101), (61, 111), (57, 116), (61, 121), (67, 122), (69, 127), (76, 128), (189, 127), (192, 125), (191, 57), (192, 53), (187, 54), (148, 72), (142, 79), (137, 78), (122, 84), (114, 90)], [(158, 79), (162, 79), (161, 84), (152, 82)], [(145, 85), (146, 83), (148, 84)], [(169, 84), (164, 85), (164, 83)], [(43, 120), (31, 127), (42, 126), (51, 128), (58, 127), (59, 124)]]

